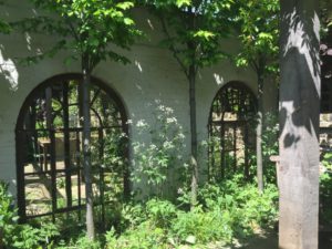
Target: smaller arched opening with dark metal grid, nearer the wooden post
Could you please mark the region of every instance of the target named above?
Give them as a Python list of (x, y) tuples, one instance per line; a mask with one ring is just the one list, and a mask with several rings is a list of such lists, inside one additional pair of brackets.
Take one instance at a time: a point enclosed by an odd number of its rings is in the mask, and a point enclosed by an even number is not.
[(256, 113), (257, 98), (246, 84), (229, 82), (217, 92), (208, 122), (209, 179), (222, 179), (236, 172), (249, 177)]

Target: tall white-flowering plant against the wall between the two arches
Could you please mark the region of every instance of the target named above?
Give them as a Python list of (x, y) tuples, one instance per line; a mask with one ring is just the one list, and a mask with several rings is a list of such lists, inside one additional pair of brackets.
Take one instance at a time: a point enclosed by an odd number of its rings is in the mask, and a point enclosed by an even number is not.
[[(176, 184), (176, 176), (188, 165), (183, 155), (184, 129), (174, 110), (163, 105), (160, 101), (156, 101), (156, 104), (149, 124), (144, 120), (135, 124), (139, 138), (133, 144), (135, 156), (132, 178), (136, 183), (146, 180), (148, 195), (163, 196), (165, 187), (172, 188)], [(147, 134), (151, 134), (149, 141), (146, 139)]]

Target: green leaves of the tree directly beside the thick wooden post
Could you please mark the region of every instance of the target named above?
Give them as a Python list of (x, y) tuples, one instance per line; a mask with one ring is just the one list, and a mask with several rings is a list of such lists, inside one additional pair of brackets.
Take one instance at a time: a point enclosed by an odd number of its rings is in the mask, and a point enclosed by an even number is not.
[(241, 0), (237, 4), (236, 22), (242, 49), (236, 64), (250, 65), (264, 75), (278, 73), (279, 1)]

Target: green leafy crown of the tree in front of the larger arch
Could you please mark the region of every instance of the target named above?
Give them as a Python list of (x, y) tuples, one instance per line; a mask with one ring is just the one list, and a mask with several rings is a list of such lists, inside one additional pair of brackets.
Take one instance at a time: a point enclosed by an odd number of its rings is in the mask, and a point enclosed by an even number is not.
[(35, 63), (45, 56), (53, 56), (63, 49), (71, 51), (66, 61), (72, 59), (85, 61), (85, 68), (90, 72), (103, 60), (128, 62), (110, 44), (129, 49), (134, 39), (141, 35), (141, 32), (135, 28), (134, 20), (128, 14), (128, 11), (134, 7), (133, 1), (31, 1), (39, 10), (50, 12), (50, 15), (37, 14), (32, 19), (17, 22), (15, 27), (27, 32), (58, 35), (59, 40), (49, 51), (37, 56), (30, 56), (25, 62)]

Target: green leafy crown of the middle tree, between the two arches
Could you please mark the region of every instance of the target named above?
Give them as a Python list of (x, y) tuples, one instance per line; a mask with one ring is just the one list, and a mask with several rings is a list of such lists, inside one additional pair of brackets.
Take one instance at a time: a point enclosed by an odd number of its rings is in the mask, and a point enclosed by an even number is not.
[(162, 44), (173, 52), (187, 76), (189, 66), (197, 70), (225, 58), (220, 42), (230, 33), (234, 0), (143, 2), (160, 19), (166, 34)]

